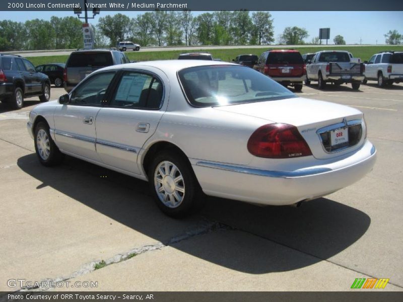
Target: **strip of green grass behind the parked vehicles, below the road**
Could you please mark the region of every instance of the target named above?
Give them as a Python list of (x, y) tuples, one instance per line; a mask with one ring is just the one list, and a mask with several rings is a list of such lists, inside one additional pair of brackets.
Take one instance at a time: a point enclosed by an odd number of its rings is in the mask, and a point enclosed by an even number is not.
[[(237, 55), (240, 54), (256, 54), (260, 55), (264, 50), (270, 49), (270, 45), (263, 46), (262, 48), (230, 48), (230, 49), (210, 49), (210, 50), (200, 50), (194, 48), (191, 52), (197, 51), (208, 51), (214, 58), (222, 59), (223, 61), (231, 61)], [(284, 47), (284, 49), (288, 49)], [(331, 48), (324, 48), (320, 46), (313, 47), (301, 47), (296, 48), (304, 53), (312, 53), (319, 50), (331, 50)], [(363, 61), (368, 60), (374, 53), (383, 50), (399, 50), (403, 51), (403, 46), (346, 46), (346, 47), (335, 47), (337, 50), (347, 50), (350, 51), (355, 57), (361, 58)], [(142, 49), (141, 51), (127, 51), (125, 52), (130, 60), (137, 61), (149, 61), (149, 60), (169, 60), (176, 59), (178, 55), (182, 52), (187, 52), (183, 50), (169, 50), (169, 51), (147, 51), (147, 49)], [(68, 59), (68, 55), (54, 55), (54, 56), (37, 56), (28, 57), (28, 59), (35, 65), (46, 64), (46, 63), (63, 63)]]

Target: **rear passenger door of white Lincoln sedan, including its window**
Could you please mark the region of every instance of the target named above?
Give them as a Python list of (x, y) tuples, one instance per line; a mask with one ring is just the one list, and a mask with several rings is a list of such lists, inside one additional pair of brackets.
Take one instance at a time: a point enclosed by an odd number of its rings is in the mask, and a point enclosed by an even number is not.
[(142, 70), (122, 72), (109, 105), (96, 118), (96, 149), (104, 164), (141, 174), (138, 154), (156, 131), (164, 114), (163, 99), (167, 97), (163, 80), (156, 74)]

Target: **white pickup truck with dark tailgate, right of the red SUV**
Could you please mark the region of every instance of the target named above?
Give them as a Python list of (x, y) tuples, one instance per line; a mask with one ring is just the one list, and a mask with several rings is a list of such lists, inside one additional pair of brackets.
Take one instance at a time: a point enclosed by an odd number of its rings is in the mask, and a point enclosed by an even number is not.
[(318, 51), (306, 64), (305, 84), (318, 81), (319, 89), (325, 89), (326, 83), (351, 83), (351, 87), (358, 90), (364, 80), (364, 70), (361, 59), (354, 58), (348, 51)]

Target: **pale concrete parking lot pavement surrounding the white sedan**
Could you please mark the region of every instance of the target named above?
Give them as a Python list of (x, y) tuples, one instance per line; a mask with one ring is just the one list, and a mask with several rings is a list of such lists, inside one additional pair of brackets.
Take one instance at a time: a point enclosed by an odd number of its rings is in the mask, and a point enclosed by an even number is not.
[[(63, 93), (52, 87), (51, 99)], [(26, 130), (38, 98), (19, 111), (0, 104), (0, 291), (21, 289), (10, 279), (70, 281), (63, 290), (343, 291), (355, 278), (401, 291), (403, 84), (298, 94), (363, 111), (374, 170), (299, 208), (207, 198), (182, 220), (162, 214), (143, 181), (70, 157), (42, 167)]]

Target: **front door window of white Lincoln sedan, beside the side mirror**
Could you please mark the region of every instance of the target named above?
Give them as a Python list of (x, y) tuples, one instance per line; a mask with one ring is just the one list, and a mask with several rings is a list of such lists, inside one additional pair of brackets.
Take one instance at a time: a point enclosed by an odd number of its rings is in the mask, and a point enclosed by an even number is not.
[(78, 86), (71, 95), (72, 105), (102, 105), (105, 101), (105, 94), (115, 72), (102, 72), (94, 74), (88, 80)]

